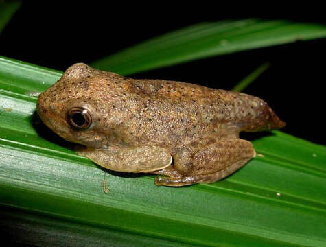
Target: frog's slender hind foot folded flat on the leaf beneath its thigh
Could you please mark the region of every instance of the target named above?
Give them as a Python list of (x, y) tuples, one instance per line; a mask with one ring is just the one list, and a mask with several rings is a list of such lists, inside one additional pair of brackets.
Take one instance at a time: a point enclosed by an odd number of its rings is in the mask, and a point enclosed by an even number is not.
[(222, 169), (213, 174), (207, 175), (198, 175), (198, 176), (181, 176), (181, 177), (167, 177), (167, 176), (156, 176), (155, 185), (161, 186), (172, 186), (172, 187), (181, 187), (185, 185), (192, 185), (196, 183), (214, 183), (226, 176), (229, 176), (237, 169), (246, 164), (247, 160), (238, 161), (229, 165), (225, 169)]

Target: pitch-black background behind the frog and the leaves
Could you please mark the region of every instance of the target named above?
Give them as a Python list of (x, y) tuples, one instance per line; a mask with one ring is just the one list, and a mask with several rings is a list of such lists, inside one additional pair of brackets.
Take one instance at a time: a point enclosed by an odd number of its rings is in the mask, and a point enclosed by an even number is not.
[[(0, 55), (64, 71), (75, 62), (93, 62), (148, 38), (202, 21), (288, 19), (326, 25), (323, 8), (303, 6), (178, 6), (129, 2), (84, 5), (24, 1), (0, 38)], [(311, 6), (312, 4), (310, 4)], [(256, 6), (257, 7), (257, 6)], [(275, 8), (276, 7), (276, 8)], [(297, 4), (296, 4), (297, 7)], [(264, 62), (271, 67), (245, 89), (264, 99), (287, 126), (284, 132), (314, 143), (325, 141), (326, 39), (298, 41), (253, 51), (196, 60), (132, 75), (231, 89)]]

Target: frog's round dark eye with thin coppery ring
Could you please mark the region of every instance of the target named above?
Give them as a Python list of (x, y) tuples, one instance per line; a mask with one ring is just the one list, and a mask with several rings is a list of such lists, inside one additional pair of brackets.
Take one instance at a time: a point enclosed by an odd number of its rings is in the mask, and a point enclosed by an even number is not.
[(92, 124), (92, 117), (89, 114), (89, 110), (82, 107), (70, 109), (67, 117), (69, 124), (78, 130), (86, 130)]

